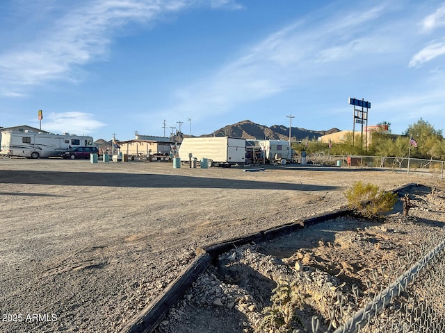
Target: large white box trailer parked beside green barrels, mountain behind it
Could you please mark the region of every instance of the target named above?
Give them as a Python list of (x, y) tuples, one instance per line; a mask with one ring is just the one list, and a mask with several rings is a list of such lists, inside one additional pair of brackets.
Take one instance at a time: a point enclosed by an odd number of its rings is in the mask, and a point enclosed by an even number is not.
[(245, 164), (245, 139), (236, 137), (186, 137), (179, 146), (181, 162), (207, 159), (209, 167)]

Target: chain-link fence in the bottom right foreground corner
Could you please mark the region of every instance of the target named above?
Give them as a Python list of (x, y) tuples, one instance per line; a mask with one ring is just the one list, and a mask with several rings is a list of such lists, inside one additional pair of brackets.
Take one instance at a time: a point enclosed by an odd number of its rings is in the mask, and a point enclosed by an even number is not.
[[(442, 230), (443, 231), (443, 230)], [(314, 316), (313, 333), (445, 332), (445, 238), (436, 235), (419, 253), (407, 253), (366, 280), (339, 293), (330, 305), (328, 323)], [(326, 327), (322, 329), (321, 327)]]

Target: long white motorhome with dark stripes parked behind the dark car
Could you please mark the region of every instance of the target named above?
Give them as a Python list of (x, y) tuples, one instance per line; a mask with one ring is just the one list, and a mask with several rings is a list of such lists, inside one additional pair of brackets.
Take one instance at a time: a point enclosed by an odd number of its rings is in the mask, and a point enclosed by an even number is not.
[(69, 148), (93, 146), (92, 137), (65, 133), (34, 133), (31, 130), (1, 132), (0, 155), (22, 157), (57, 157)]

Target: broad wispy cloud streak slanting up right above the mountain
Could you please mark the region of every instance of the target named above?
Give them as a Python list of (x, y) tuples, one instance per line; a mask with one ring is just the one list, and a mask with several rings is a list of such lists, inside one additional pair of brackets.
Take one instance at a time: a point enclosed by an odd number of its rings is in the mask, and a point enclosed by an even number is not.
[[(346, 61), (376, 53), (391, 52), (394, 43), (378, 33), (363, 36), (384, 12), (385, 6), (350, 12), (312, 24), (300, 20), (248, 47), (241, 56), (218, 69), (212, 76), (177, 92), (177, 106), (161, 114), (191, 114), (196, 119), (221, 114), (234, 105), (261, 100), (298, 87), (305, 79), (332, 71), (323, 62)], [(335, 68), (338, 71), (338, 68)]]

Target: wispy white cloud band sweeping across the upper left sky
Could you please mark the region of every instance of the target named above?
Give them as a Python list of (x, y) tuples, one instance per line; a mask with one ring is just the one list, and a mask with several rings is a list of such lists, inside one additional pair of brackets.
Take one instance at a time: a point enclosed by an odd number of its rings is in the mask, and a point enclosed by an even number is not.
[[(44, 0), (42, 0), (44, 1)], [(46, 2), (46, 1), (44, 1)], [(192, 6), (239, 9), (234, 0), (97, 0), (76, 1), (60, 17), (47, 17), (35, 39), (3, 45), (0, 51), (0, 94), (21, 96), (26, 87), (49, 80), (76, 80), (76, 69), (107, 57), (113, 37), (126, 24), (156, 24), (165, 15)], [(55, 10), (57, 12), (57, 10)], [(47, 15), (52, 14), (51, 10)], [(44, 20), (40, 20), (42, 22)]]

